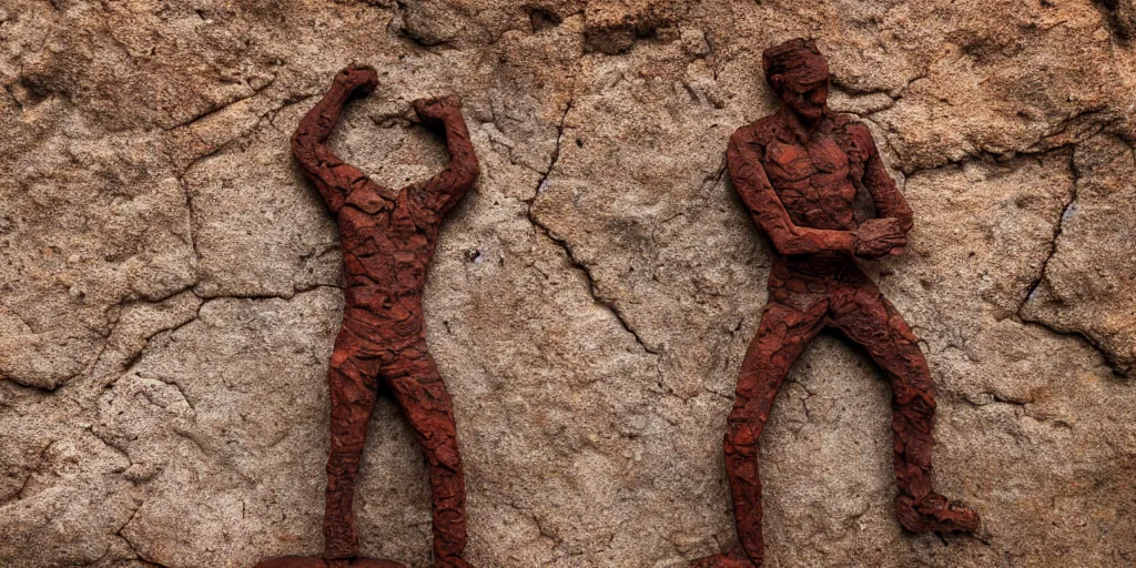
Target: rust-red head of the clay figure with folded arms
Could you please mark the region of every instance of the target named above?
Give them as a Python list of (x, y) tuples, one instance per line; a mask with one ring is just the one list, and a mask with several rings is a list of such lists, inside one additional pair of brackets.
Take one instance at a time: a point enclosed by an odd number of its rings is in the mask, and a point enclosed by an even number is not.
[(812, 40), (797, 37), (761, 55), (766, 81), (782, 105), (803, 118), (824, 116), (828, 102), (828, 61)]

